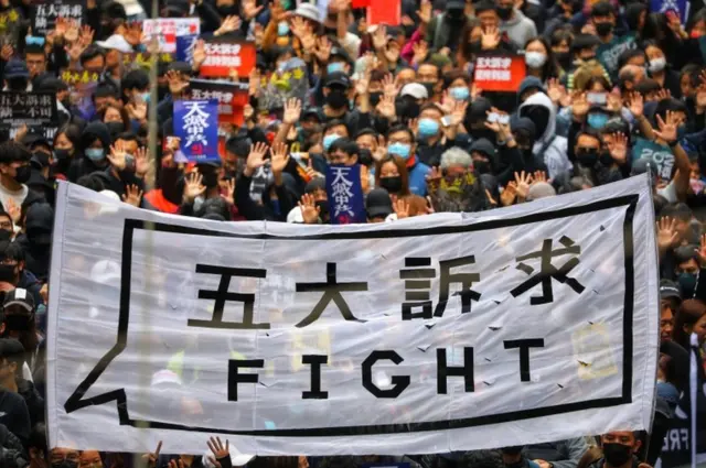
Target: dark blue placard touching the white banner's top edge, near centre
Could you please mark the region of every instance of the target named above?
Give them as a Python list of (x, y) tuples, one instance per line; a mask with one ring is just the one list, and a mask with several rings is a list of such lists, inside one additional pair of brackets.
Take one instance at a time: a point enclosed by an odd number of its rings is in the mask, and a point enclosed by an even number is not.
[(361, 166), (329, 166), (327, 194), (332, 225), (365, 222), (365, 198), (361, 185)]

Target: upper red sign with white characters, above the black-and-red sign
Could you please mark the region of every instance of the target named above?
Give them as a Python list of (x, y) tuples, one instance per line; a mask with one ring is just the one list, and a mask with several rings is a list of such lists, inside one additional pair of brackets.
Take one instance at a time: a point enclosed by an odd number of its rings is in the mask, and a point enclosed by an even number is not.
[(206, 59), (201, 76), (227, 78), (232, 70), (246, 77), (255, 67), (255, 43), (232, 37), (211, 37), (205, 41)]

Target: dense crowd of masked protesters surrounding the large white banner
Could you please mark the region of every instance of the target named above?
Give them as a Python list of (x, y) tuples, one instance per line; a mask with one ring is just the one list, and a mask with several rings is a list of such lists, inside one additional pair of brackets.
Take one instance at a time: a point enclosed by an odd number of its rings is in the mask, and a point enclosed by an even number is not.
[[(160, 17), (201, 23), (191, 61), (179, 62), (153, 53), (141, 22), (129, 21), (119, 2), (87, 0), (81, 24), (57, 18), (42, 36), (29, 26), (29, 1), (0, 2), (0, 13), (19, 18), (17, 41), (0, 50), (3, 91), (49, 91), (57, 106), (53, 138), (45, 128), (26, 127), (0, 137), (3, 466), (135, 465), (119, 450), (47, 448), (44, 350), (56, 181), (162, 213), (315, 225), (331, 218), (329, 165), (360, 166), (368, 222), (494, 209), (650, 172), (662, 277), (652, 433), (404, 461), (424, 468), (654, 465), (677, 405), (688, 406), (692, 334), (699, 389), (704, 382), (702, 1), (691, 1), (686, 13), (652, 11), (642, 0), (402, 0), (395, 26), (368, 24), (365, 9), (353, 9), (351, 0), (331, 0), (325, 10), (321, 2), (297, 3), (164, 0)], [(180, 162), (173, 105), (191, 97), (191, 79), (206, 59), (203, 40), (214, 36), (255, 43), (253, 72), (229, 78), (249, 85), (244, 123), (220, 124), (220, 161)], [(130, 59), (150, 52), (146, 63)], [(483, 56), (521, 57), (518, 89), (478, 86), (474, 68)], [(296, 86), (285, 77), (281, 85), (292, 61), (303, 64), (303, 77)], [(154, 86), (145, 64), (156, 67)], [(98, 77), (88, 107), (77, 105), (65, 72)], [(698, 399), (706, 407), (703, 392)], [(208, 448), (205, 456), (165, 456), (158, 448), (147, 461), (159, 468), (389, 461), (243, 458), (220, 439)]]

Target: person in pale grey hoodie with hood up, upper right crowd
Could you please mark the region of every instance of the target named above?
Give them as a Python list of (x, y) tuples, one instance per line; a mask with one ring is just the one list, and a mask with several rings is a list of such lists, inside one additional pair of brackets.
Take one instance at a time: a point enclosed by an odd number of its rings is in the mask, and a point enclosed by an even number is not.
[(520, 117), (531, 119), (535, 124), (537, 140), (533, 146), (535, 156), (543, 159), (549, 178), (568, 174), (571, 162), (568, 159), (568, 143), (565, 137), (556, 134), (556, 109), (544, 92), (535, 92), (518, 109)]

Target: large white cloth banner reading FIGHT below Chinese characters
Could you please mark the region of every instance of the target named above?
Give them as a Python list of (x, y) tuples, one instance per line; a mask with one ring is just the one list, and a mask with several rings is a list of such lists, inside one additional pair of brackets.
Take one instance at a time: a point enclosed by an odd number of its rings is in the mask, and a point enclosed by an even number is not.
[(217, 222), (61, 184), (51, 446), (421, 454), (650, 427), (645, 177), (384, 225)]

